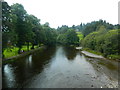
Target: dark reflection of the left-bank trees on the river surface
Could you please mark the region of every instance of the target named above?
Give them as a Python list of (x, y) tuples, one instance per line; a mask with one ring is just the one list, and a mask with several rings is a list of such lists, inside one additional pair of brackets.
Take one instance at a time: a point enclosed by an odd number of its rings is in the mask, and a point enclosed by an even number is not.
[[(23, 58), (19, 58), (10, 64), (6, 64), (2, 67), (2, 85), (4, 87), (24, 87), (29, 83), (36, 74), (43, 70), (43, 66), (51, 59), (55, 53), (54, 47), (38, 51), (33, 55), (29, 55)], [(47, 52), (47, 53), (46, 53)], [(5, 73), (5, 68), (8, 68), (10, 73)], [(8, 76), (11, 76), (8, 79)], [(12, 78), (14, 77), (14, 78)], [(11, 82), (12, 81), (12, 82)], [(15, 83), (13, 83), (13, 81)]]

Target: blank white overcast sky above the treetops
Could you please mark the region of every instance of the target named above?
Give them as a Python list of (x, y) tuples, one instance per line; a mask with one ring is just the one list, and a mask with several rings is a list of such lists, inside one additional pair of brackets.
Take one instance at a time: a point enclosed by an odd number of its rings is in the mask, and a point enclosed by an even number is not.
[(118, 24), (119, 0), (5, 0), (9, 5), (20, 3), (28, 14), (35, 15), (41, 24), (52, 28), (80, 25), (106, 20)]

